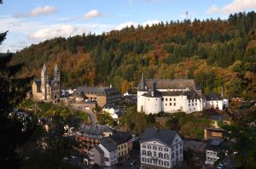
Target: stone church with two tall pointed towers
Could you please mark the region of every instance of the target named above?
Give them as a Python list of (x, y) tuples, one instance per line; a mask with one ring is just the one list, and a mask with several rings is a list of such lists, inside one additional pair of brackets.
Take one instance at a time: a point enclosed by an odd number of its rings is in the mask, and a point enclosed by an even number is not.
[(32, 83), (32, 97), (36, 100), (54, 103), (61, 99), (61, 72), (57, 64), (53, 70), (53, 80), (49, 80), (48, 70), (44, 64), (41, 79)]

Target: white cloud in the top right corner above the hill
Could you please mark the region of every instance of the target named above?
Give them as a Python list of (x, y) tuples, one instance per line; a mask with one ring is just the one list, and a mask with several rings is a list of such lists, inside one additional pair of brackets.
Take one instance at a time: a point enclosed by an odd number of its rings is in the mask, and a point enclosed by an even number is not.
[(220, 13), (231, 14), (236, 12), (243, 12), (247, 9), (255, 9), (256, 0), (233, 0), (231, 3), (225, 5), (223, 8), (218, 8), (215, 5), (207, 9), (207, 14)]

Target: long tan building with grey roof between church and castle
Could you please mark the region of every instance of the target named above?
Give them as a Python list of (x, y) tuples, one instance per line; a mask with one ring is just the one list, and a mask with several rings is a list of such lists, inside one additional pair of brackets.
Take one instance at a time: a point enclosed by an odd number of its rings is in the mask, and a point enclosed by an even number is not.
[(85, 95), (84, 101), (96, 102), (101, 107), (121, 100), (121, 94), (113, 87), (78, 87), (76, 93)]

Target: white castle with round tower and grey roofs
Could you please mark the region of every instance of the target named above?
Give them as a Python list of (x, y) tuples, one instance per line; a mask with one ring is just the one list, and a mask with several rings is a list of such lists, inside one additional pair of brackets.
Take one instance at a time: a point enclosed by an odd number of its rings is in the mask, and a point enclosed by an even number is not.
[(148, 79), (142, 76), (137, 87), (137, 111), (156, 114), (160, 111), (192, 113), (205, 108), (223, 110), (228, 107), (228, 99), (211, 93), (205, 97), (201, 89), (195, 87), (193, 79)]

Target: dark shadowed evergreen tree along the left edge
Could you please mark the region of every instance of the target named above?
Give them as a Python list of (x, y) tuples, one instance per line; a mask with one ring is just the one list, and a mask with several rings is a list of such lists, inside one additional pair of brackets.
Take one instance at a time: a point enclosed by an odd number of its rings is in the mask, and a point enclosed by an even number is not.
[[(3, 1), (0, 0), (0, 3)], [(7, 32), (0, 33), (0, 45)], [(22, 65), (9, 65), (11, 58), (12, 54), (0, 54), (0, 166), (3, 168), (19, 167), (15, 148), (21, 141), (21, 126), (15, 119), (9, 119), (8, 114), (26, 96), (31, 80), (15, 76)]]

